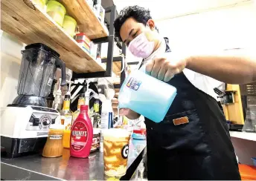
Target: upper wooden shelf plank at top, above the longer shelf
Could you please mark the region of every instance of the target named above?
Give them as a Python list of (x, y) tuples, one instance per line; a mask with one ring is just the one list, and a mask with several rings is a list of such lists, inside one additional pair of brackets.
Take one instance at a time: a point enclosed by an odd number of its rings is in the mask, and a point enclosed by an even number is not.
[(86, 33), (89, 39), (108, 36), (107, 30), (97, 19), (86, 0), (59, 0), (65, 6), (68, 15), (77, 20), (79, 31)]

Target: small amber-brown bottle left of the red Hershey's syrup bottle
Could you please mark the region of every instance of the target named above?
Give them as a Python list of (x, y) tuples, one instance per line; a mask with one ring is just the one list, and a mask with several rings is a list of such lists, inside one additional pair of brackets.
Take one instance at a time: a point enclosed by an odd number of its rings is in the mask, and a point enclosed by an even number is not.
[(42, 156), (51, 158), (63, 156), (63, 129), (57, 126), (50, 128)]

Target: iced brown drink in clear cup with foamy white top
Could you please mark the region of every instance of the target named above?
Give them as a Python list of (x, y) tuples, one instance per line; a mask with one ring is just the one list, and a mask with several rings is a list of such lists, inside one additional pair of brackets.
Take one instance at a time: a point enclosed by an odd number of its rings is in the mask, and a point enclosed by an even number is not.
[(124, 129), (103, 131), (103, 158), (107, 176), (121, 177), (127, 173), (129, 138), (129, 131)]

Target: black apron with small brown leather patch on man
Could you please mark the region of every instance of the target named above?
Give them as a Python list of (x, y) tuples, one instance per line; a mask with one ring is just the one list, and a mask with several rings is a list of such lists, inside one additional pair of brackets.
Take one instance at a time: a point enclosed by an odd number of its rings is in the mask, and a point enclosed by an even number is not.
[[(193, 86), (184, 73), (167, 83), (177, 89), (177, 96), (164, 120), (145, 118), (148, 180), (240, 180), (217, 101)], [(188, 123), (174, 125), (173, 119), (186, 116)]]

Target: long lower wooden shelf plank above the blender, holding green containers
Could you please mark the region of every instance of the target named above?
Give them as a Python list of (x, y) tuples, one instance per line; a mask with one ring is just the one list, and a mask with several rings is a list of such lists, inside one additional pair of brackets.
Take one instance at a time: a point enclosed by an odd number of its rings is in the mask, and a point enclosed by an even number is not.
[(74, 72), (104, 70), (89, 53), (64, 32), (60, 25), (47, 13), (33, 6), (29, 0), (1, 0), (1, 30), (16, 36), (25, 44), (40, 42), (48, 45), (60, 53), (60, 59), (63, 59), (66, 67)]

